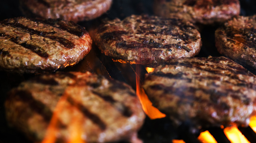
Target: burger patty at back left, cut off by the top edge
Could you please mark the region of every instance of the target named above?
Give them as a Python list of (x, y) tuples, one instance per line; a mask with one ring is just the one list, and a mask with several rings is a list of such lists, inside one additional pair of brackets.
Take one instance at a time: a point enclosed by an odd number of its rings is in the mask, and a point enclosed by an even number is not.
[(105, 13), (112, 0), (20, 0), (25, 15), (41, 18), (61, 18), (75, 23), (91, 20)]

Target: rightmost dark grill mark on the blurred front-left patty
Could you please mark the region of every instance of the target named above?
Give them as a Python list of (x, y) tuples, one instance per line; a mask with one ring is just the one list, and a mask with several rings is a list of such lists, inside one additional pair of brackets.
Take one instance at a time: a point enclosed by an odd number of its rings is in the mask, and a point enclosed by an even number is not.
[(122, 103), (118, 104), (119, 102), (116, 101), (115, 99), (113, 99), (112, 96), (103, 95), (96, 91), (93, 91), (93, 93), (95, 95), (97, 95), (98, 97), (102, 98), (104, 101), (111, 103), (117, 109), (117, 111), (119, 111), (123, 116), (125, 116), (125, 117), (132, 116), (132, 111), (127, 106), (123, 105)]

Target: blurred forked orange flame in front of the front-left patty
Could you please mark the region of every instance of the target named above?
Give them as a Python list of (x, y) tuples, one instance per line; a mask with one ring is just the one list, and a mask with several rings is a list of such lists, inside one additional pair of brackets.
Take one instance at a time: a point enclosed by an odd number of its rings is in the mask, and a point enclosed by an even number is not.
[[(68, 88), (66, 90), (68, 90)], [(46, 130), (46, 135), (41, 143), (55, 143), (56, 137), (58, 134), (58, 129), (57, 129), (58, 116), (61, 114), (62, 110), (64, 109), (68, 96), (69, 94), (64, 92), (63, 96), (61, 96), (60, 100), (58, 101), (53, 112), (53, 117)], [(76, 109), (76, 107), (74, 106), (71, 106), (69, 108), (71, 108), (71, 110), (74, 109), (74, 111), (78, 111), (78, 109)], [(75, 116), (72, 117), (72, 122), (70, 123), (70, 126), (68, 128), (70, 133), (70, 138), (68, 143), (86, 143), (81, 139), (82, 129), (81, 129), (80, 120), (81, 118), (77, 118)]]

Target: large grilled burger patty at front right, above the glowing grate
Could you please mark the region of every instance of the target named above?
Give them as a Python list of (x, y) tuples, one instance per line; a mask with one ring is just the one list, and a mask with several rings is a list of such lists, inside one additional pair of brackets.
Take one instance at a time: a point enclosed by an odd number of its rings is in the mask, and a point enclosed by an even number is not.
[(171, 60), (148, 73), (143, 88), (177, 125), (247, 126), (255, 114), (256, 76), (223, 56)]

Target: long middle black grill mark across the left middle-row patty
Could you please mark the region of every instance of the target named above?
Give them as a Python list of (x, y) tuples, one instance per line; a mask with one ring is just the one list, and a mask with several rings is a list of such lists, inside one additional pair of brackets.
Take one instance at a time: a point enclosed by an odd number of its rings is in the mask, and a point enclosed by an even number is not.
[(52, 36), (53, 34), (56, 33), (55, 31), (52, 31), (52, 32), (38, 31), (38, 30), (34, 30), (32, 28), (26, 27), (26, 26), (24, 26), (22, 24), (19, 24), (19, 23), (2, 22), (2, 24), (10, 25), (10, 26), (12, 26), (14, 28), (20, 28), (20, 29), (22, 29), (24, 31), (27, 31), (31, 35), (38, 35), (38, 36), (42, 36), (42, 37), (45, 37), (45, 38), (49, 38), (49, 39), (51, 39), (53, 41), (57, 41), (57, 42), (63, 44), (68, 49), (72, 49), (72, 48), (75, 47), (74, 43), (72, 43), (71, 41), (69, 41), (69, 40), (67, 40), (65, 38), (57, 37), (57, 36)]

